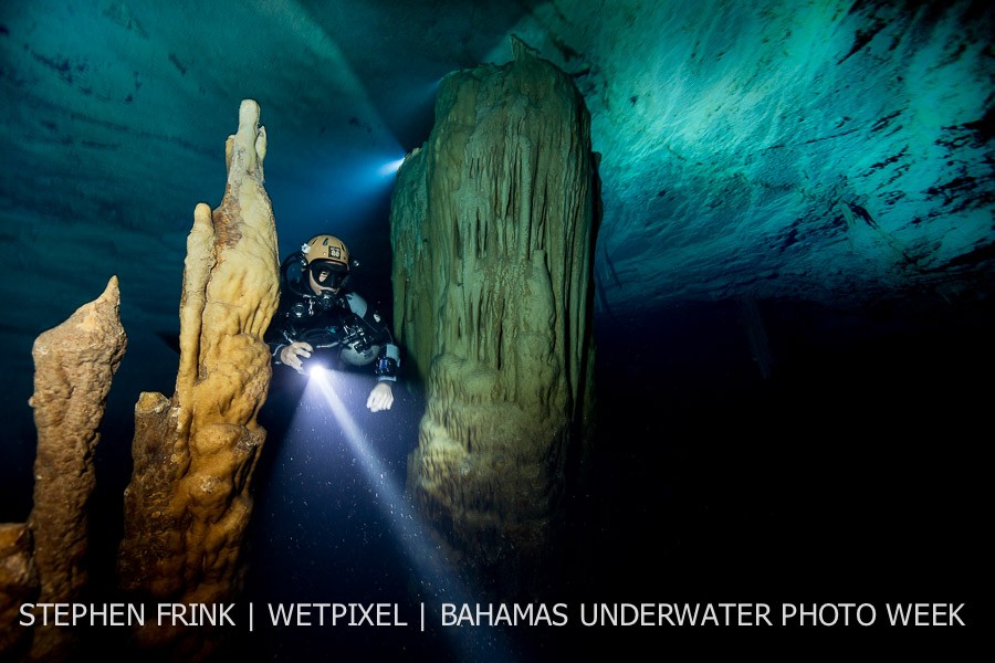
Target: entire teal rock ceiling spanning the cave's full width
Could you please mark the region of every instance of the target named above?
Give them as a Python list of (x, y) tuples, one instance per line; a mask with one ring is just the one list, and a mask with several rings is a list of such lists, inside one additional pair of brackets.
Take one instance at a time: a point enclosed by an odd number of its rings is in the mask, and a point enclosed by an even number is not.
[[(122, 399), (170, 392), (197, 202), (262, 107), (281, 252), (335, 230), (383, 278), (391, 178), (447, 72), (517, 34), (570, 73), (605, 204), (598, 315), (992, 294), (992, 10), (981, 2), (538, 0), (0, 6), (3, 375), (121, 278)], [(138, 366), (139, 365), (140, 368)], [(133, 382), (129, 382), (133, 380)], [(23, 418), (27, 378), (4, 408)], [(7, 411), (7, 410), (4, 410)]]

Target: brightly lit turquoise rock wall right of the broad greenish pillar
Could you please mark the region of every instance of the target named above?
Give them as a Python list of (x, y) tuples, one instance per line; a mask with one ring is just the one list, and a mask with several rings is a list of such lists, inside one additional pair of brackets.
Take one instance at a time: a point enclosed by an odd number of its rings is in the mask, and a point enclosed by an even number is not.
[(605, 155), (609, 315), (991, 297), (992, 3), (558, 0), (525, 23)]

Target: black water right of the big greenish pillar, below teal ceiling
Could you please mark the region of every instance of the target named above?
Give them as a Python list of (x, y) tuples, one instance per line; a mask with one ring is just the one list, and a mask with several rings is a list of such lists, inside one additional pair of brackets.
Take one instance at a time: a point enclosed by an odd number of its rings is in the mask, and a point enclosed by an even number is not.
[[(632, 332), (642, 356), (601, 365), (603, 414), (626, 423), (601, 445), (610, 525), (593, 547), (619, 572), (598, 573), (599, 588), (630, 601), (879, 612), (872, 628), (736, 629), (706, 643), (874, 638), (950, 652), (977, 638), (988, 612), (978, 524), (991, 312), (858, 317), (768, 304), (766, 379), (734, 303), (645, 320)], [(625, 336), (601, 327), (601, 347)], [(965, 602), (973, 630), (882, 628), (884, 604), (898, 601)]]

